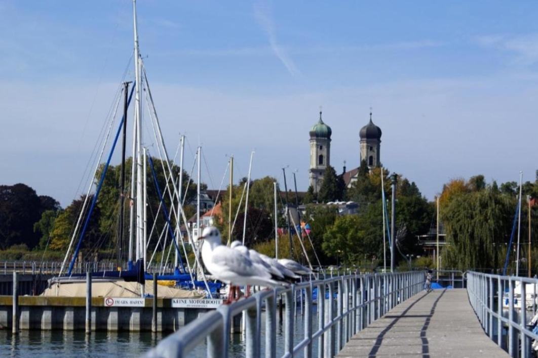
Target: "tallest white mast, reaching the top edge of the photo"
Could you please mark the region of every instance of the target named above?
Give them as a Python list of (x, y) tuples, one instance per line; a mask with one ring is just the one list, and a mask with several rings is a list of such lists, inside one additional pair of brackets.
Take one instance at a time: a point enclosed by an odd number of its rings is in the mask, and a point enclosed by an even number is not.
[(142, 197), (142, 126), (141, 126), (141, 104), (140, 104), (140, 53), (138, 48), (138, 26), (136, 14), (136, 0), (133, 0), (133, 30), (134, 30), (134, 79), (135, 96), (134, 96), (134, 122), (137, 127), (137, 184), (136, 184), (136, 204), (137, 204), (137, 222), (136, 222), (136, 259), (140, 259), (140, 243), (143, 236), (143, 220), (142, 220), (142, 201), (138, 200)]

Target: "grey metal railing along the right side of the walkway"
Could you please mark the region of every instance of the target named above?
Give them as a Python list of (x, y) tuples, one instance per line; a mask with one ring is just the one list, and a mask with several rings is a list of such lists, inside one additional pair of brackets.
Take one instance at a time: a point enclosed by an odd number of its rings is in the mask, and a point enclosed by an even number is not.
[[(521, 294), (514, 294), (519, 283)], [(536, 285), (538, 279), (527, 277), (501, 276), (478, 272), (467, 273), (467, 292), (472, 308), (484, 331), (497, 345), (507, 350), (512, 357), (531, 356), (532, 341), (538, 339), (527, 327), (527, 290), (526, 284), (532, 284), (535, 292), (532, 296), (530, 311), (536, 313)], [(520, 309), (516, 310), (516, 306)], [(518, 312), (519, 311), (519, 312)], [(503, 329), (507, 328), (507, 334)], [(496, 337), (494, 335), (496, 334)]]

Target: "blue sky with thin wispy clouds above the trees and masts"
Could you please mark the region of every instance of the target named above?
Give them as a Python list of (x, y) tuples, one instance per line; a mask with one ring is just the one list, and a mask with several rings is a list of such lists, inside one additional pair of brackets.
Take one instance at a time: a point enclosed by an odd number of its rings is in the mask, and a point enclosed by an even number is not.
[[(63, 205), (81, 193), (132, 53), (131, 11), (128, 0), (0, 1), (0, 182)], [(254, 149), (253, 177), (281, 180), (289, 165), (305, 190), (320, 106), (331, 165), (357, 166), (373, 107), (381, 162), (429, 199), (450, 178), (534, 180), (537, 13), (532, 1), (138, 2), (168, 149), (185, 133), (190, 167), (201, 143), (209, 186), (226, 155), (246, 176)]]

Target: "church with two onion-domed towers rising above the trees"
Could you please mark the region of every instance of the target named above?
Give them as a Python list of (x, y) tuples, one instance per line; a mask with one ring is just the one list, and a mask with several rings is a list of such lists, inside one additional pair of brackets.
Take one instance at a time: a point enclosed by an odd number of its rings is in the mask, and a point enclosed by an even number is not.
[[(323, 181), (323, 173), (327, 166), (330, 165), (330, 143), (331, 143), (331, 128), (325, 124), (321, 118), (310, 129), (310, 169), (309, 181), (310, 186), (317, 193)], [(381, 128), (374, 125), (372, 122), (372, 113), (370, 113), (370, 121), (366, 126), (359, 130), (359, 162), (366, 161), (369, 169), (381, 166)], [(346, 187), (357, 180), (359, 167), (355, 167), (350, 171), (342, 174)]]

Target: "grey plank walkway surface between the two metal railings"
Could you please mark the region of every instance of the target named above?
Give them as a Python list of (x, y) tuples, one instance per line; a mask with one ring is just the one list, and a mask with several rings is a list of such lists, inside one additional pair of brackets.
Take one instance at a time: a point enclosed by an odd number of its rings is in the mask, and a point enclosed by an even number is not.
[(359, 332), (338, 357), (507, 357), (484, 333), (465, 289), (420, 293)]

